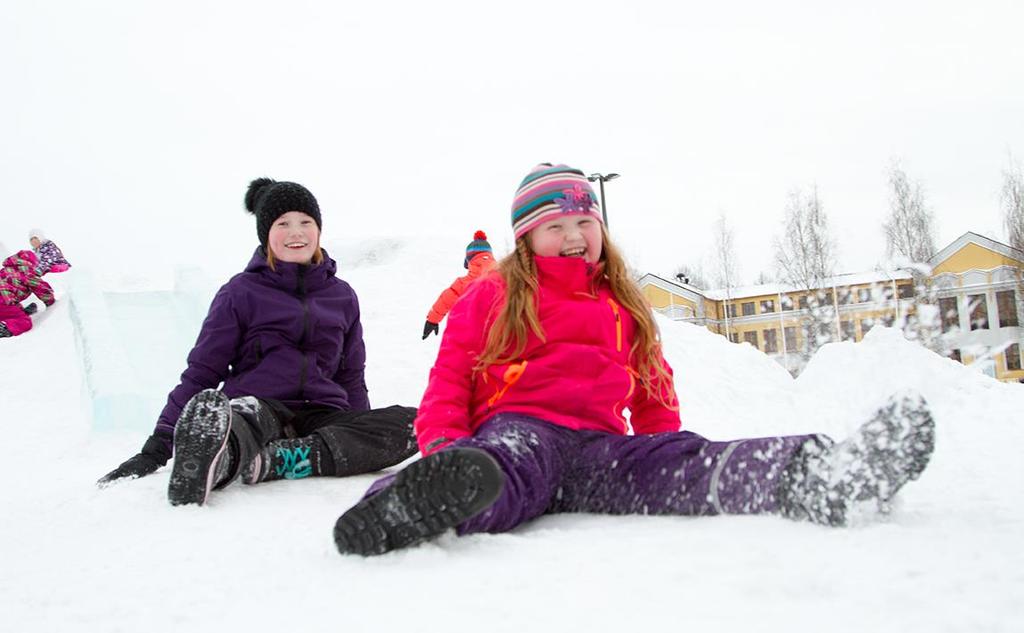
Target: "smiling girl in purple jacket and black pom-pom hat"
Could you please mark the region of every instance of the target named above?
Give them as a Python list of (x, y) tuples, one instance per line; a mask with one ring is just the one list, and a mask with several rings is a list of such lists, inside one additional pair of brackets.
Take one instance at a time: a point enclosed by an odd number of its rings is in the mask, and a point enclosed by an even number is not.
[(319, 247), (316, 199), (258, 178), (245, 204), (260, 246), (214, 297), (153, 435), (100, 486), (154, 472), (173, 449), (169, 501), (202, 505), (239, 477), (345, 476), (416, 453), (415, 409), (370, 408), (358, 300)]

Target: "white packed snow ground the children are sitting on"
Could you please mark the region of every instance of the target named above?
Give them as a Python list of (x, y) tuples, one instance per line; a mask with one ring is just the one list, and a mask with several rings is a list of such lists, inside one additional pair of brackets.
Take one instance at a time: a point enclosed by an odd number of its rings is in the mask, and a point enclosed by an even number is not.
[[(375, 406), (418, 404), (438, 344), (420, 340), (424, 315), (462, 271), (464, 245), (423, 238), (330, 249), (360, 296)], [(793, 380), (748, 345), (659, 321), (684, 426), (712, 438), (841, 437), (889, 393), (921, 391), (935, 414), (936, 452), (888, 517), (834, 530), (772, 516), (560, 515), (361, 559), (340, 556), (331, 530), (376, 475), (234, 484), (202, 508), (167, 503), (169, 467), (95, 488), (141, 447), (159, 409), (96, 424), (70, 311), (87, 272), (49, 276), (57, 303), (32, 332), (0, 341), (0, 630), (1024, 629), (1024, 385), (894, 331), (826, 346)], [(159, 286), (132, 286), (147, 284)], [(129, 356), (161, 336), (117, 320)], [(179, 325), (191, 336), (199, 326)], [(153, 371), (175, 376), (186, 352)]]

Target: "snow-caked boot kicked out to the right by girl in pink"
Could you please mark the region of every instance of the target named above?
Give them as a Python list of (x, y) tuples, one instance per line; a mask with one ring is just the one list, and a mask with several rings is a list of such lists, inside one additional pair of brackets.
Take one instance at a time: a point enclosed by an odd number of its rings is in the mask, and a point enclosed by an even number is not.
[(782, 473), (779, 512), (825, 525), (846, 525), (858, 510), (887, 513), (934, 449), (935, 421), (925, 399), (894, 395), (842, 442), (804, 445)]

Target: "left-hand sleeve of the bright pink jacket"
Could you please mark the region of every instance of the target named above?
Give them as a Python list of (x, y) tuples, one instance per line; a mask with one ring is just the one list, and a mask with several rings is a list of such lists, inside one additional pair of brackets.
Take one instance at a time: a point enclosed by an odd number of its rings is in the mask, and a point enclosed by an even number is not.
[(483, 350), (500, 296), (497, 281), (476, 283), (449, 313), (447, 328), (414, 423), (424, 455), (472, 434), (473, 367)]

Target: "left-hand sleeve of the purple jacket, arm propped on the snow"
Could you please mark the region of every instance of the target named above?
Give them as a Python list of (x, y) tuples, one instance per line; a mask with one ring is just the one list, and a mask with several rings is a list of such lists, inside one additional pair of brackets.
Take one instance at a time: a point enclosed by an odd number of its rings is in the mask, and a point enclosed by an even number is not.
[(241, 344), (242, 328), (225, 285), (210, 304), (196, 345), (188, 352), (188, 366), (181, 373), (181, 382), (167, 396), (167, 405), (157, 421), (156, 434), (173, 436), (178, 416), (191, 396), (203, 389), (220, 386)]

